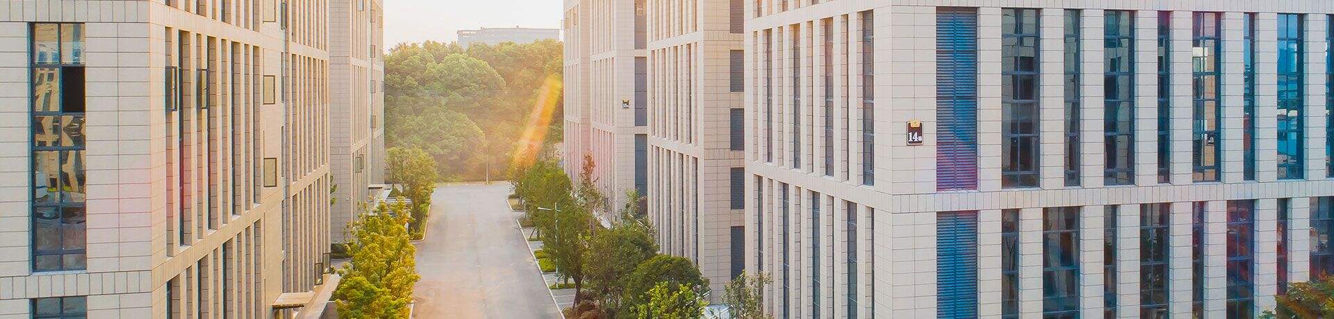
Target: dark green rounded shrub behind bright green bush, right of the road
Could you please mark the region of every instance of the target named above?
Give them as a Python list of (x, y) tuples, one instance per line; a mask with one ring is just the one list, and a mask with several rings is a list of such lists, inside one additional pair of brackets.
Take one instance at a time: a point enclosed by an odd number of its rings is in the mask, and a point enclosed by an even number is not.
[(671, 286), (687, 284), (707, 290), (708, 279), (699, 274), (699, 267), (683, 257), (655, 255), (635, 266), (635, 271), (624, 278), (623, 308), (634, 308), (647, 303), (644, 294), (660, 282)]

